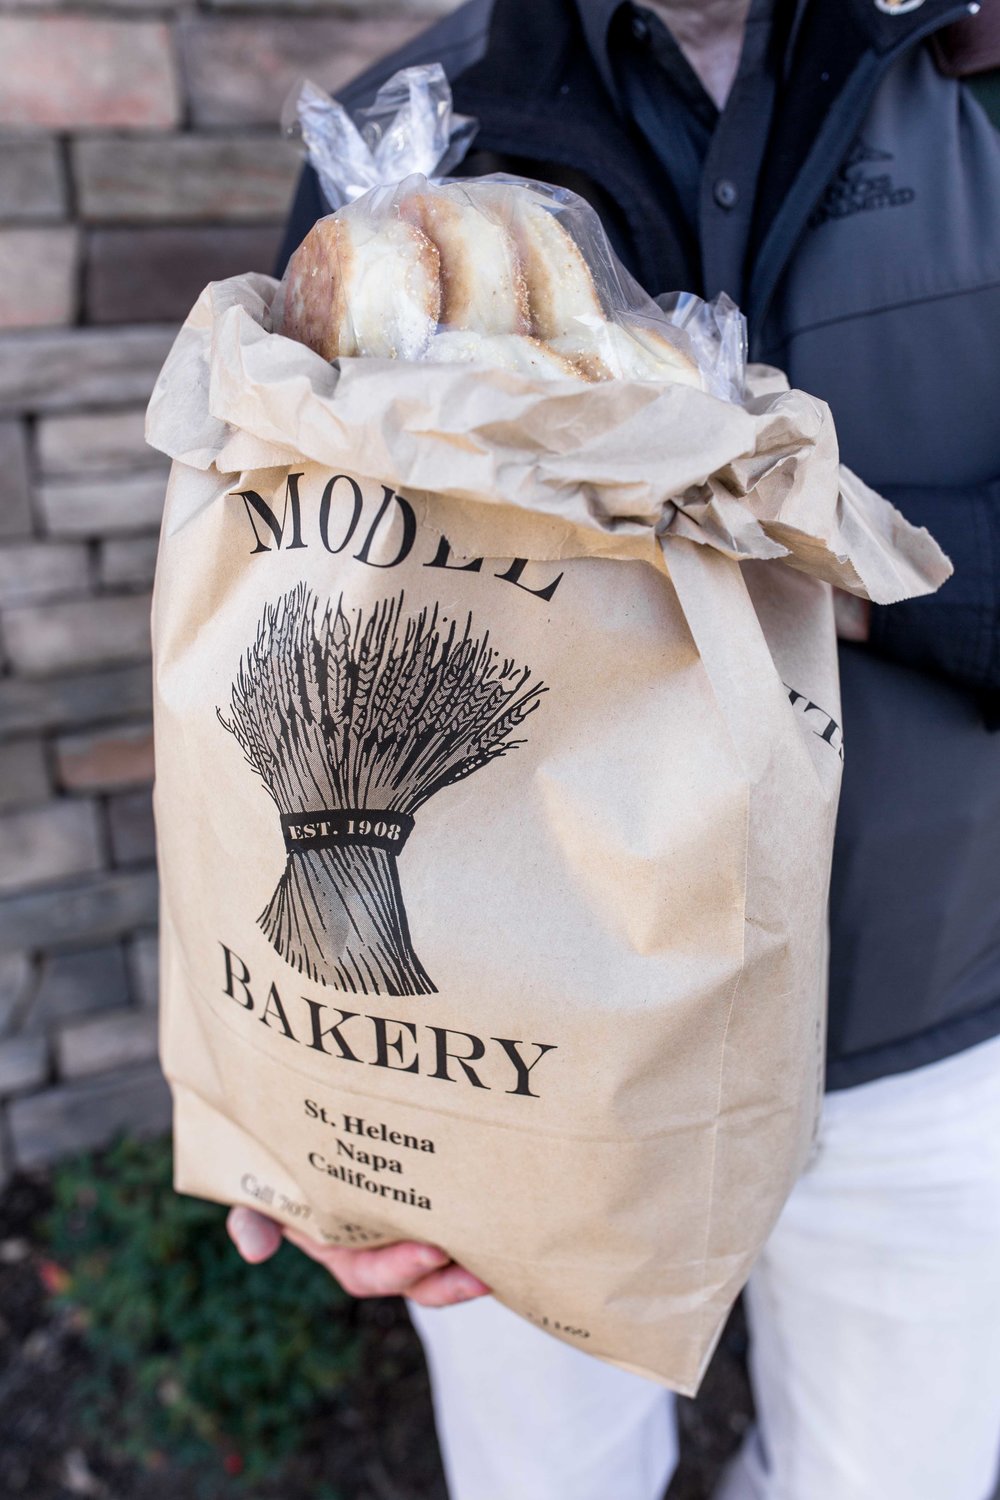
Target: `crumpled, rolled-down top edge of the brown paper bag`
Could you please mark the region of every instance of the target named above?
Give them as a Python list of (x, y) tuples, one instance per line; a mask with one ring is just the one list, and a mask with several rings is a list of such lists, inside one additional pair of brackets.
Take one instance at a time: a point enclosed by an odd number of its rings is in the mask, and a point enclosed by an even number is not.
[[(157, 378), (147, 441), (226, 474), (301, 459), (561, 524), (561, 555), (615, 536), (775, 558), (879, 604), (952, 567), (838, 460), (825, 402), (751, 366), (742, 405), (687, 386), (538, 381), (492, 366), (343, 358), (270, 333), (277, 282), (198, 298)], [(603, 532), (604, 544), (594, 546)]]

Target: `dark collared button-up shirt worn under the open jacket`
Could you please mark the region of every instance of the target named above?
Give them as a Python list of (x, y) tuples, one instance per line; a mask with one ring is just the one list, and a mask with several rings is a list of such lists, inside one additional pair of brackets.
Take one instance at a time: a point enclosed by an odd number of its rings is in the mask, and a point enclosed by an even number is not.
[(577, 0), (588, 48), (622, 116), (648, 142), (673, 196), (693, 280), (744, 300), (753, 224), (789, 4), (753, 0), (726, 106), (718, 110), (669, 28), (630, 0)]

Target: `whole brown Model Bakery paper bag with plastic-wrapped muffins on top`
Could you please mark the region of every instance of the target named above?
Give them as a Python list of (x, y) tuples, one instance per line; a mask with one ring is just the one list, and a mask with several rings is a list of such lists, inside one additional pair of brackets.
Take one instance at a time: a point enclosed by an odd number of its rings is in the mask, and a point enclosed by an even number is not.
[(148, 410), (177, 1186), (693, 1392), (814, 1132), (831, 585), (949, 566), (439, 69), (301, 116), (336, 212)]

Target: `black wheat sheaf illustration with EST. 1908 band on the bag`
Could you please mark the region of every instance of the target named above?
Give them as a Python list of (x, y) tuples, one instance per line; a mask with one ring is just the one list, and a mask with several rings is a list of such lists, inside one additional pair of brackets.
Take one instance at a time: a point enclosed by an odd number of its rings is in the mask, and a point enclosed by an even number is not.
[(433, 994), (397, 856), (418, 810), (523, 740), (543, 682), (438, 606), (367, 612), (304, 585), (268, 604), (217, 716), (280, 814), (286, 861), (258, 921), (300, 974), (361, 994)]

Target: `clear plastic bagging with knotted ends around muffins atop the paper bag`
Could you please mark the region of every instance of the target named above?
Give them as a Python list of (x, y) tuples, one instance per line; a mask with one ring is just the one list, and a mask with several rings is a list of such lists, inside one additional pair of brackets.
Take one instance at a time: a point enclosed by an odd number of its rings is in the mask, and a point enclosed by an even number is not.
[(474, 134), (442, 69), (405, 69), (357, 120), (295, 96), (324, 192), (340, 207), (292, 256), (276, 332), (324, 358), (486, 363), (537, 380), (697, 386), (741, 400), (745, 322), (729, 297), (654, 302), (591, 206), (507, 174), (448, 178)]

